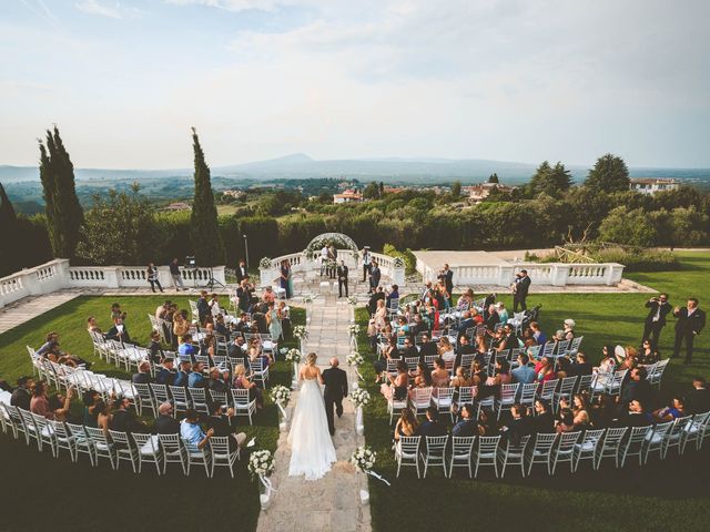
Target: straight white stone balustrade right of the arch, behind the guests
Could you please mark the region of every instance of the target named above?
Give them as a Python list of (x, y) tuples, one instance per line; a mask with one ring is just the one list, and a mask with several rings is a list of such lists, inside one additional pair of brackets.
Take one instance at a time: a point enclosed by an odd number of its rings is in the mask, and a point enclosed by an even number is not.
[[(452, 266), (455, 285), (509, 286), (515, 274), (527, 269), (534, 285), (616, 285), (621, 282), (623, 265), (618, 263), (565, 264), (515, 263), (493, 265)], [(435, 282), (438, 272), (420, 260), (417, 270), (425, 280)]]

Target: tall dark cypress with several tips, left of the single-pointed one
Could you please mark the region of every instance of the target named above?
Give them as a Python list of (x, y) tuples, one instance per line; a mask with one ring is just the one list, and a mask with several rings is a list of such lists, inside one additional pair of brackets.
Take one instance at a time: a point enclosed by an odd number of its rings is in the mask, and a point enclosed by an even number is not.
[(52, 252), (55, 257), (73, 258), (83, 211), (77, 196), (74, 165), (57, 126), (47, 131), (45, 144), (40, 141), (40, 180)]

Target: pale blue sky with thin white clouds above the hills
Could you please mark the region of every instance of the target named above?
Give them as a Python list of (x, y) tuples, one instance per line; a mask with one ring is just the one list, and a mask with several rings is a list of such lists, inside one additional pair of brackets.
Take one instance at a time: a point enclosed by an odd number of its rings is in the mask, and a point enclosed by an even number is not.
[(0, 0), (0, 164), (710, 167), (707, 0)]

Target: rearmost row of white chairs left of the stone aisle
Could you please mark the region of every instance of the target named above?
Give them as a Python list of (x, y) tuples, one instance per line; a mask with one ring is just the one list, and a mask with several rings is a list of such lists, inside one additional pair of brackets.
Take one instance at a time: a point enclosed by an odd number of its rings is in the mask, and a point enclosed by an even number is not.
[(0, 402), (0, 427), (17, 440), (23, 437), (30, 446), (36, 442), (40, 451), (49, 448), (54, 458), (67, 451), (72, 462), (87, 454), (92, 467), (105, 458), (113, 470), (122, 461), (131, 463), (134, 473), (140, 473), (143, 463), (153, 463), (158, 474), (165, 474), (168, 463), (180, 463), (184, 474), (190, 474), (193, 464), (202, 464), (207, 477), (214, 475), (215, 467), (226, 467), (234, 478), (234, 463), (240, 458), (236, 446), (230, 447), (231, 437), (212, 437), (203, 449), (195, 449), (180, 434), (146, 434), (110, 430), (110, 438), (101, 429), (83, 424), (45, 419), (18, 407)]

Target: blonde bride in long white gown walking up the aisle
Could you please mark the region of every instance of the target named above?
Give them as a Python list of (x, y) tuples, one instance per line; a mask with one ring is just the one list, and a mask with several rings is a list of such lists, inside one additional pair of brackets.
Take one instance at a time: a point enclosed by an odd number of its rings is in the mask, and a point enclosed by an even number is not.
[(328, 432), (325, 405), (318, 382), (323, 382), (321, 369), (315, 365), (316, 355), (311, 352), (298, 372), (302, 382), (296, 409), (291, 423), (290, 477), (305, 474), (306, 480), (317, 480), (331, 470), (336, 461), (335, 448)]

